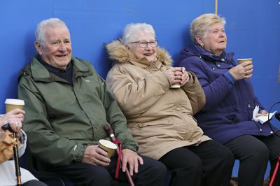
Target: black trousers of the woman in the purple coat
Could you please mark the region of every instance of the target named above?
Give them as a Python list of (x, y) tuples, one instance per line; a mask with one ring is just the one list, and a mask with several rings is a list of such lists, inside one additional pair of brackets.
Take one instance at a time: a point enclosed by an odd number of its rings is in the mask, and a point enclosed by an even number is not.
[[(280, 134), (280, 132), (277, 134)], [(232, 139), (225, 145), (232, 150), (235, 158), (240, 161), (239, 186), (262, 186), (268, 160), (270, 161), (270, 175), (272, 176), (280, 155), (280, 138), (278, 136), (244, 135)], [(276, 175), (274, 185), (280, 185), (280, 170)]]

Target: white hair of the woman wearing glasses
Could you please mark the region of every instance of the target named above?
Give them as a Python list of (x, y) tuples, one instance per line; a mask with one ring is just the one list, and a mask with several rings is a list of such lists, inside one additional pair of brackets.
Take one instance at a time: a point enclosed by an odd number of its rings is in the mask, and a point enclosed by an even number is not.
[(131, 23), (127, 24), (123, 31), (123, 44), (127, 45), (128, 43), (137, 41), (139, 33), (148, 33), (155, 38), (155, 29), (151, 24), (144, 23)]

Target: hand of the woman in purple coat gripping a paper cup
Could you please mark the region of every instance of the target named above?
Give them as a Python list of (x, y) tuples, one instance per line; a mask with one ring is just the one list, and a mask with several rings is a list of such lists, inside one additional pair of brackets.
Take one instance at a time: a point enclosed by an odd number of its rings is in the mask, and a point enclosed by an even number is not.
[(253, 64), (251, 62), (244, 62), (229, 70), (235, 80), (244, 78), (251, 78), (253, 72)]

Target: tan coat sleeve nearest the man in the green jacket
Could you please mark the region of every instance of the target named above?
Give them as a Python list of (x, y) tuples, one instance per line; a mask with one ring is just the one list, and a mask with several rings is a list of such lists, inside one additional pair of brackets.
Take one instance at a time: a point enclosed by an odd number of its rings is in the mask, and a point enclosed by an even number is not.
[(169, 90), (170, 83), (162, 71), (151, 73), (146, 77), (134, 75), (133, 78), (131, 73), (127, 69), (114, 66), (109, 71), (106, 81), (125, 115), (137, 117), (151, 108), (162, 94)]

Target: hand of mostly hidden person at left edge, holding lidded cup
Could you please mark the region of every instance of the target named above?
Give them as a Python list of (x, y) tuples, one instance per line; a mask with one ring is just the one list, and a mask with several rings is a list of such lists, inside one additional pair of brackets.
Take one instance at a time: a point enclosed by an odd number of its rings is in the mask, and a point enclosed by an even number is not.
[[(10, 124), (10, 127), (14, 132), (19, 132), (22, 128), (22, 122), (24, 119), (25, 111), (21, 109), (10, 110), (10, 112), (6, 113), (2, 117), (0, 117), (0, 126), (3, 124)], [(0, 128), (1, 129), (1, 128)]]

